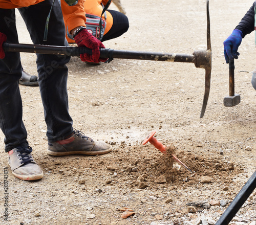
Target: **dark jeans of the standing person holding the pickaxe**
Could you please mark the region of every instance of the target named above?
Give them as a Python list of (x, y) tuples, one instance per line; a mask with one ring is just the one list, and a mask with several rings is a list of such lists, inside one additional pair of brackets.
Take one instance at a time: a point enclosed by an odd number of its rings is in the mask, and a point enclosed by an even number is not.
[[(20, 8), (34, 44), (67, 46), (65, 25), (58, 1), (55, 1), (49, 21), (47, 41), (44, 41), (46, 18), (52, 0)], [(6, 34), (7, 42), (18, 43), (15, 10), (0, 9), (0, 32)], [(0, 127), (5, 135), (5, 151), (23, 145), (28, 146), (24, 126), (22, 98), (18, 80), (22, 76), (19, 53), (6, 52), (0, 59)], [(73, 121), (68, 111), (67, 79), (68, 56), (37, 54), (38, 82), (44, 105), (47, 137), (49, 142), (62, 140), (73, 132)], [(33, 115), (31, 119), (35, 120)]]

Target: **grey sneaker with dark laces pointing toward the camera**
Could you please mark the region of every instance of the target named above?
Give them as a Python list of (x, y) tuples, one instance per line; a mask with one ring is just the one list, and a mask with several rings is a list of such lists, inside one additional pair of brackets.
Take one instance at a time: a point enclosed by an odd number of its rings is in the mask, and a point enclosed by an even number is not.
[(24, 181), (41, 179), (44, 175), (41, 168), (35, 163), (31, 152), (32, 148), (29, 146), (14, 148), (8, 152), (12, 174)]

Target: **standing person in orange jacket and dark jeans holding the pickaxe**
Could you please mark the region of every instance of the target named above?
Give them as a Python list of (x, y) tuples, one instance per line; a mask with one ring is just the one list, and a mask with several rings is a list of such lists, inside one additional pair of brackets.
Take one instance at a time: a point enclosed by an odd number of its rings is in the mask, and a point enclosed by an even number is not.
[[(22, 15), (34, 44), (68, 46), (64, 18), (77, 45), (92, 49), (92, 55), (80, 55), (82, 61), (97, 63), (107, 59), (100, 58), (99, 49), (105, 48), (101, 41), (84, 26), (86, 16), (83, 1), (61, 0), (60, 7), (59, 2), (54, 0), (0, 0), (0, 128), (5, 136), (5, 151), (8, 152), (13, 175), (30, 181), (42, 178), (44, 173), (33, 159), (23, 123), (23, 105), (18, 86), (22, 76), (20, 54), (5, 52), (3, 48), (4, 42), (18, 43), (15, 8)], [(94, 141), (73, 128), (67, 91), (66, 64), (69, 60), (69, 56), (37, 54), (39, 89), (47, 125), (47, 153), (55, 156), (108, 153), (111, 145)]]

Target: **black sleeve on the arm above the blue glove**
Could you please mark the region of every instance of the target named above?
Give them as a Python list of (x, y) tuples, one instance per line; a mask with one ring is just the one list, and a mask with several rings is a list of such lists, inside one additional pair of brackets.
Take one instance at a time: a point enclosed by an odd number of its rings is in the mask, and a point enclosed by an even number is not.
[(254, 31), (254, 7), (256, 1), (253, 3), (249, 11), (244, 15), (242, 20), (239, 22), (238, 26), (235, 29), (242, 31), (243, 38), (246, 34)]

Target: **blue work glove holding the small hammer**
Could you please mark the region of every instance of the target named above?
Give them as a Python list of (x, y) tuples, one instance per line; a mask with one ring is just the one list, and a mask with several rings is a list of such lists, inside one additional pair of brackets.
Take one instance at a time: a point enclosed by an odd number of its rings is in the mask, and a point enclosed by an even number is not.
[(242, 42), (242, 35), (242, 31), (235, 29), (233, 30), (232, 34), (230, 34), (229, 37), (223, 42), (226, 63), (228, 63), (229, 60), (238, 59), (238, 47)]

